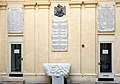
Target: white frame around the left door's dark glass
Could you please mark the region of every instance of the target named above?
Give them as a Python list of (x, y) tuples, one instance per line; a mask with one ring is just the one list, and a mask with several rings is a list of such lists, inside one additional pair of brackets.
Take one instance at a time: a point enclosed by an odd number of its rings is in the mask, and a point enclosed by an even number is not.
[(23, 58), (23, 37), (9, 37), (8, 43), (8, 76), (10, 74), (23, 74), (23, 60), (21, 60), (21, 72), (11, 72), (11, 44), (21, 44), (21, 58)]

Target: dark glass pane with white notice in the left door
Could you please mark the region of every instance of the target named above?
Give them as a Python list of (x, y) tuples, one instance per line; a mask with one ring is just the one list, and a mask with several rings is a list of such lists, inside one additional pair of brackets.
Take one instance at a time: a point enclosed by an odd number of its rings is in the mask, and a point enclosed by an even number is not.
[(11, 72), (21, 72), (21, 44), (11, 44)]

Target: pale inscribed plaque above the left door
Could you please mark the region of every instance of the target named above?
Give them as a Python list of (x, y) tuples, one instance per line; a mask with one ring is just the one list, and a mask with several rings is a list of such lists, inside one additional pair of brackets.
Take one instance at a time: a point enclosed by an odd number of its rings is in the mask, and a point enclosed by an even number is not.
[(23, 9), (22, 8), (8, 9), (8, 32), (9, 33), (23, 32)]

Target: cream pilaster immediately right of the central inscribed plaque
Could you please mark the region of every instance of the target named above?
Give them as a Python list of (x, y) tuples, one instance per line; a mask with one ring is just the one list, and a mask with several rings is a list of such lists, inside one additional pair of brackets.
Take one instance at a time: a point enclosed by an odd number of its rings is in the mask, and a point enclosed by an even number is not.
[[(75, 65), (74, 68), (71, 68), (71, 75), (81, 74), (81, 5), (76, 7), (70, 6), (70, 25), (69, 25), (69, 53), (70, 53), (70, 63), (71, 66)], [(76, 23), (78, 25), (76, 25)], [(77, 37), (77, 38), (76, 38)]]

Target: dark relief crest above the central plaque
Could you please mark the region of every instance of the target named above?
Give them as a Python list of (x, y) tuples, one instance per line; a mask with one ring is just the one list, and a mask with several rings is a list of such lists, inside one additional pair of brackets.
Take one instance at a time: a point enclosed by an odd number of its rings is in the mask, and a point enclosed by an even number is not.
[(58, 4), (57, 7), (54, 7), (54, 15), (58, 17), (66, 15), (66, 7)]

